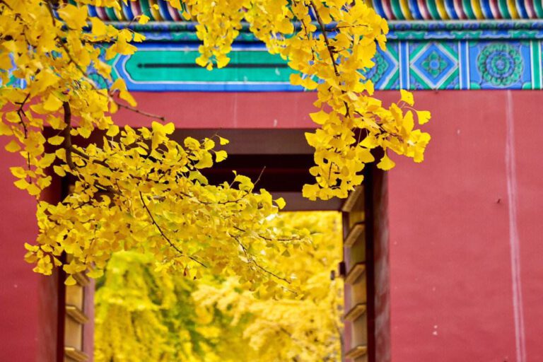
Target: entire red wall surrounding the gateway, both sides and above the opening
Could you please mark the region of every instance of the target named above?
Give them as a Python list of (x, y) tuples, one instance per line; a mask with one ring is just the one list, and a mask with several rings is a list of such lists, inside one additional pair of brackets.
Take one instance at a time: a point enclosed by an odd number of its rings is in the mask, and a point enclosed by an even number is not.
[[(541, 94), (416, 93), (417, 107), (433, 113), (426, 160), (417, 165), (395, 158), (397, 168), (385, 179), (392, 362), (543, 361)], [(397, 92), (380, 96), (398, 98)], [(136, 95), (142, 109), (166, 115), (177, 127), (204, 129), (313, 127), (314, 97)], [(127, 111), (117, 118), (149, 124)], [(56, 284), (40, 282), (23, 262), (23, 242), (36, 232), (35, 205), (11, 183), (6, 165), (18, 158), (1, 151), (1, 161), (0, 361), (52, 361)], [(520, 291), (516, 298), (513, 290)]]

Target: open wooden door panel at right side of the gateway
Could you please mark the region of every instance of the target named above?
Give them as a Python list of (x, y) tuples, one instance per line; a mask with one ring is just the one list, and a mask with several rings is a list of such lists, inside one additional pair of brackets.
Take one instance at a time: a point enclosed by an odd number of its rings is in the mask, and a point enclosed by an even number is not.
[(368, 361), (368, 282), (366, 203), (363, 186), (351, 192), (343, 208), (346, 361)]

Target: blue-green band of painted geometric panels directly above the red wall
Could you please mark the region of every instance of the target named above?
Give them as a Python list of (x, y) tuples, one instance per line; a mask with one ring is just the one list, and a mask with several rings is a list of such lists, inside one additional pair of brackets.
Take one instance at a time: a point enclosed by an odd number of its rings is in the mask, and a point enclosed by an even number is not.
[[(195, 43), (139, 45), (112, 61), (132, 91), (303, 91), (264, 45), (238, 44), (223, 69), (195, 64)], [(542, 89), (541, 40), (391, 41), (366, 77), (375, 89)]]

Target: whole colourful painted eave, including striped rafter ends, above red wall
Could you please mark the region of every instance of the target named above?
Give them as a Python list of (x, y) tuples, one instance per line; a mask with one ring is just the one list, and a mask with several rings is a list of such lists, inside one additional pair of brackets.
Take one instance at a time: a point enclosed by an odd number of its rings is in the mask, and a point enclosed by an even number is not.
[[(386, 52), (366, 71), (378, 90), (542, 89), (542, 0), (373, 0), (389, 19)], [(154, 8), (153, 5), (158, 5)], [(139, 52), (112, 60), (132, 91), (303, 91), (292, 71), (244, 26), (224, 69), (195, 64), (195, 24), (164, 0), (129, 1), (91, 14), (146, 36)], [(131, 22), (144, 13), (153, 21)]]

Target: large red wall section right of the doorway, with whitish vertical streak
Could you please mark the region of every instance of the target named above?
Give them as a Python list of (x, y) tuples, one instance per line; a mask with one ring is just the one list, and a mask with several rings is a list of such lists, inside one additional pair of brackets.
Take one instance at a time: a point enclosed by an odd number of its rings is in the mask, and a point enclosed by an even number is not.
[(543, 361), (542, 93), (416, 100), (426, 160), (388, 175), (392, 361)]

